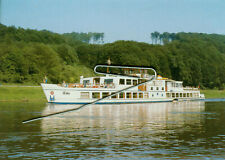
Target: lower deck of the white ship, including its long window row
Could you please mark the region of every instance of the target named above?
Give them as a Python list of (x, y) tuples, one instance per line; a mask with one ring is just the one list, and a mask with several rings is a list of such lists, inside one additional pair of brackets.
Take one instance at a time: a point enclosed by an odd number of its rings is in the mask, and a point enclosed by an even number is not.
[(76, 91), (76, 90), (60, 90), (45, 89), (47, 101), (53, 103), (73, 103), (84, 104), (91, 103), (98, 99), (99, 104), (105, 103), (148, 103), (148, 102), (170, 102), (173, 100), (195, 100), (200, 99), (199, 91), (192, 92), (142, 92), (142, 91), (125, 91), (114, 94), (116, 91)]

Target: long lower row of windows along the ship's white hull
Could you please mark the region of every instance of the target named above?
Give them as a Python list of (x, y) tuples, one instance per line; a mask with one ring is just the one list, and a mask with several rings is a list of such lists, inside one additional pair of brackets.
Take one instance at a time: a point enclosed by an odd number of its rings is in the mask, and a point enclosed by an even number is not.
[[(109, 96), (110, 92), (81, 92), (80, 97), (81, 98), (104, 98)], [(90, 97), (91, 95), (91, 97)], [(111, 96), (111, 98), (152, 98), (152, 97), (164, 97), (164, 93), (136, 93), (136, 92), (121, 92), (119, 94)], [(198, 93), (166, 93), (167, 98), (192, 98), (192, 97), (198, 97)]]

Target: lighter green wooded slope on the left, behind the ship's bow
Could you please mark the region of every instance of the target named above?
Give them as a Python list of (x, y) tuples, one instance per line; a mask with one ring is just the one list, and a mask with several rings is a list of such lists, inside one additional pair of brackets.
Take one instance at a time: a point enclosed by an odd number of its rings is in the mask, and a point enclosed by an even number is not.
[(0, 35), (0, 83), (39, 84), (45, 75), (50, 83), (74, 82), (82, 69), (86, 76), (92, 74), (79, 65), (76, 43), (67, 44), (62, 35), (4, 25), (0, 25)]

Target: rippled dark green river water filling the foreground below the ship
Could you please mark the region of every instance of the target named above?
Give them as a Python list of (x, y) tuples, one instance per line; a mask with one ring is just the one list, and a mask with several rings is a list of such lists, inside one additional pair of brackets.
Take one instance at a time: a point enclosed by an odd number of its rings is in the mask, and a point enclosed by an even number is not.
[(225, 102), (0, 103), (0, 159), (225, 159)]

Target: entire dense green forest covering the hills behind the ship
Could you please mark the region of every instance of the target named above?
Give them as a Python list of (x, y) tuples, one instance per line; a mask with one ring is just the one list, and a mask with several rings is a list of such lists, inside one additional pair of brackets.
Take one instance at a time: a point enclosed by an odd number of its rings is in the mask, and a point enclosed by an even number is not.
[(225, 36), (203, 33), (150, 34), (152, 44), (116, 41), (104, 33), (37, 31), (0, 25), (0, 83), (76, 82), (96, 64), (151, 66), (187, 86), (225, 87)]

